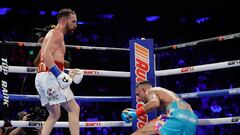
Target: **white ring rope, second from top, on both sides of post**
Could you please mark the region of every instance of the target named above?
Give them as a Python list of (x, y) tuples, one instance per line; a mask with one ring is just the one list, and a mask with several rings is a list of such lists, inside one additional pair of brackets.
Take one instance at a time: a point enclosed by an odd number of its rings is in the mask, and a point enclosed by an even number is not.
[[(224, 69), (231, 67), (239, 67), (240, 60), (225, 61), (219, 63), (190, 66), (176, 69), (159, 70), (155, 72), (156, 76), (168, 76), (184, 73), (201, 72), (208, 70)], [(36, 67), (22, 67), (22, 66), (9, 66), (9, 73), (37, 73)], [(84, 75), (87, 76), (105, 76), (105, 77), (130, 77), (130, 72), (125, 71), (107, 71), (107, 70), (84, 70)], [(0, 66), (2, 72), (2, 66)]]

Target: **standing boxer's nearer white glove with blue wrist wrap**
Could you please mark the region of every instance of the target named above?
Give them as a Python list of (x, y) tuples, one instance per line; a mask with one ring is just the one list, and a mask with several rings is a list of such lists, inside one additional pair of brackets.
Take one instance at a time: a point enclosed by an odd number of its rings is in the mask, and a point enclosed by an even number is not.
[(62, 72), (57, 65), (52, 66), (50, 71), (57, 78), (57, 82), (62, 89), (65, 89), (72, 84), (72, 78), (68, 74)]

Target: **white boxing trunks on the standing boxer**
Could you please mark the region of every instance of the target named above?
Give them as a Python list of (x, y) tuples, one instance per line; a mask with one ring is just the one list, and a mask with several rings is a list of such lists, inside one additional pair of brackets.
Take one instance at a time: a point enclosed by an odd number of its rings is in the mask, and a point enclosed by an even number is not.
[(37, 73), (35, 87), (39, 93), (42, 106), (60, 104), (74, 99), (70, 86), (65, 89), (60, 88), (51, 72)]

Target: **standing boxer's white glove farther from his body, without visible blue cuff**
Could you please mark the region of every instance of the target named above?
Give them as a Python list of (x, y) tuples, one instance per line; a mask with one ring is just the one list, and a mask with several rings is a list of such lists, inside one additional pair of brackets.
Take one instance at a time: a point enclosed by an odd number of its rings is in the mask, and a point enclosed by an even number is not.
[(79, 84), (82, 81), (84, 73), (83, 73), (83, 70), (75, 68), (75, 69), (70, 69), (68, 74), (71, 76), (75, 84)]

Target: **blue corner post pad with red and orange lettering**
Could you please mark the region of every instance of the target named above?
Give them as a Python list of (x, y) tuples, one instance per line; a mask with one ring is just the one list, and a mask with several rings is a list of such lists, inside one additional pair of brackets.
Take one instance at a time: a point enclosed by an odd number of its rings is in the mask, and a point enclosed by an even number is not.
[[(140, 108), (144, 103), (136, 97), (136, 84), (148, 80), (155, 86), (153, 39), (130, 40), (129, 43), (132, 108)], [(155, 110), (139, 117), (137, 121), (132, 123), (133, 130), (142, 128), (156, 115), (157, 111)]]

